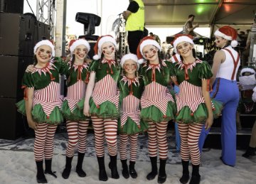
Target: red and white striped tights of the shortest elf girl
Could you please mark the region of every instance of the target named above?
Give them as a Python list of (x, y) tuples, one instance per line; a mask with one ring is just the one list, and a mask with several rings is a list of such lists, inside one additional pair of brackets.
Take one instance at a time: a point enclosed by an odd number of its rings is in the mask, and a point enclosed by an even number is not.
[(130, 161), (136, 161), (137, 158), (137, 148), (138, 148), (138, 135), (133, 134), (133, 135), (127, 135), (127, 134), (119, 134), (119, 154), (120, 154), (120, 159), (121, 160), (126, 160), (127, 159), (127, 142), (129, 139), (129, 153), (130, 153)]

